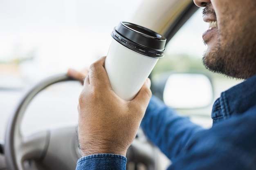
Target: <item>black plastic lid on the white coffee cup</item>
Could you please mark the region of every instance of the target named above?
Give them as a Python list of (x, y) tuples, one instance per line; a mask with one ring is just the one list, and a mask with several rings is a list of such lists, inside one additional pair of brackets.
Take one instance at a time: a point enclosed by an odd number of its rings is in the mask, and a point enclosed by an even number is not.
[(166, 38), (143, 26), (120, 22), (111, 35), (117, 42), (138, 53), (156, 58), (164, 56)]

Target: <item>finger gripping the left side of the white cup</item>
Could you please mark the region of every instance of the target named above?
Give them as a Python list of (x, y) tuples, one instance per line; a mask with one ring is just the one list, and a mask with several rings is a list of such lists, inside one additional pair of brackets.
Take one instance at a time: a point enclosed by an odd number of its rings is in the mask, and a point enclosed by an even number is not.
[(102, 57), (90, 66), (90, 84), (93, 86), (110, 86), (108, 74), (104, 68), (106, 57)]

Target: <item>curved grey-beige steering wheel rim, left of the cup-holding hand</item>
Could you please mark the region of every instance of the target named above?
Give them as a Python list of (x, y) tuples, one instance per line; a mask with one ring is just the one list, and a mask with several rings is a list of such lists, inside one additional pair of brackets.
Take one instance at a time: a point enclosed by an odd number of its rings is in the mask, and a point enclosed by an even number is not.
[[(20, 170), (23, 169), (22, 165), (18, 163), (17, 155), (15, 148), (17, 148), (16, 138), (22, 139), (21, 132), (20, 132), (20, 124), (21, 119), (25, 113), (25, 110), (29, 104), (29, 102), (43, 89), (47, 88), (48, 86), (58, 83), (58, 82), (65, 82), (74, 80), (71, 77), (67, 76), (66, 74), (58, 74), (46, 79), (43, 79), (33, 87), (31, 87), (25, 95), (21, 98), (20, 102), (17, 105), (17, 108), (11, 114), (9, 122), (6, 128), (6, 135), (5, 135), (5, 145), (4, 145), (4, 153), (6, 157), (6, 163), (8, 170)], [(43, 136), (47, 136), (48, 134), (44, 134)], [(43, 154), (43, 153), (42, 153)]]

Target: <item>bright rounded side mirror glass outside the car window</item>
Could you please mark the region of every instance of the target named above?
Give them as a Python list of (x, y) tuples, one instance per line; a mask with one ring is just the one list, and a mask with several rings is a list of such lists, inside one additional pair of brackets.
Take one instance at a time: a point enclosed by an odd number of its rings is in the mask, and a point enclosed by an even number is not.
[(168, 76), (163, 101), (172, 108), (203, 108), (213, 101), (209, 77), (198, 73), (173, 73)]

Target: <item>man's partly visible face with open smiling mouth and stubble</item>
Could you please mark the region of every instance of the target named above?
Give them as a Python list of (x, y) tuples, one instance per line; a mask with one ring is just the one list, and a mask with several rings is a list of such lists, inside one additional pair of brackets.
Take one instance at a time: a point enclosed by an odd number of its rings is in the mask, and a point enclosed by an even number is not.
[(211, 71), (246, 79), (256, 74), (256, 1), (194, 0), (204, 7), (207, 44), (204, 65)]

